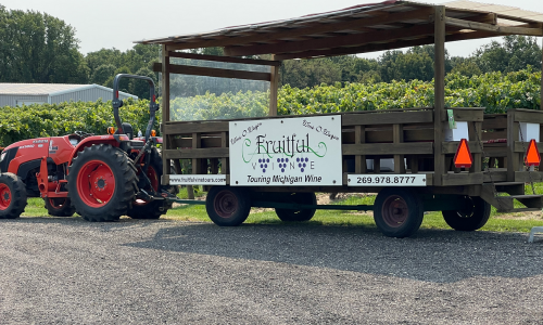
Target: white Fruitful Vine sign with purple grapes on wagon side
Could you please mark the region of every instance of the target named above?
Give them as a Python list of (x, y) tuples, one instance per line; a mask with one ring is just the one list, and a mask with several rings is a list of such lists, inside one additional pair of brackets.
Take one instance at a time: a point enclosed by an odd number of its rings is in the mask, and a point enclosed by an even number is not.
[(230, 185), (342, 184), (341, 116), (229, 122)]

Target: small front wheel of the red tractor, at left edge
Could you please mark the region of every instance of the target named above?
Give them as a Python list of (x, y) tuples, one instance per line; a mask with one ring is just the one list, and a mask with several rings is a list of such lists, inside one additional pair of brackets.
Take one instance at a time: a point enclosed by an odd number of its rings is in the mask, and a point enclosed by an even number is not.
[(16, 219), (25, 207), (25, 183), (14, 173), (0, 173), (0, 219)]

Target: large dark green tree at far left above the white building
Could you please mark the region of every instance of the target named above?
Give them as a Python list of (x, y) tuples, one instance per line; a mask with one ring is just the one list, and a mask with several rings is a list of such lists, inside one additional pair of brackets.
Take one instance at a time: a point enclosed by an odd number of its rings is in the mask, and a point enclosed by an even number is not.
[(0, 82), (87, 82), (75, 30), (59, 18), (0, 5)]

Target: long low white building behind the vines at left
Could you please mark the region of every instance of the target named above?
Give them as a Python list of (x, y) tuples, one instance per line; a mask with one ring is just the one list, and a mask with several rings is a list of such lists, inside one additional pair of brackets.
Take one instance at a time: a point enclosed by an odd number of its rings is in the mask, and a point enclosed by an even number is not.
[[(121, 100), (138, 96), (118, 92)], [(106, 102), (113, 99), (113, 89), (99, 84), (63, 83), (0, 83), (0, 107), (63, 102)]]

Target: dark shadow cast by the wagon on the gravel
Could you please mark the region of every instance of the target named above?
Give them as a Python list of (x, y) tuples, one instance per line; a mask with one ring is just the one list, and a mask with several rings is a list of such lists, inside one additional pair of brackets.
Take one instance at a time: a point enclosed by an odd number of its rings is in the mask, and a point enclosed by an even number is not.
[(542, 274), (543, 243), (527, 244), (527, 238), (519, 233), (420, 230), (397, 239), (359, 226), (173, 223), (152, 240), (127, 245), (447, 283)]

